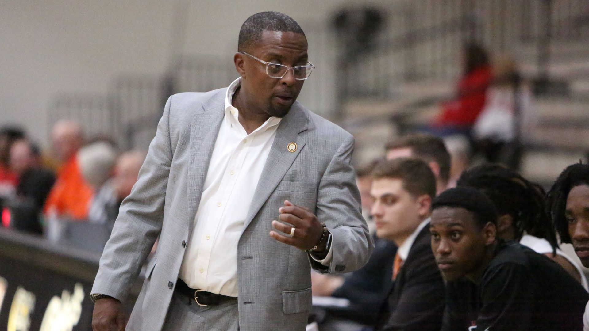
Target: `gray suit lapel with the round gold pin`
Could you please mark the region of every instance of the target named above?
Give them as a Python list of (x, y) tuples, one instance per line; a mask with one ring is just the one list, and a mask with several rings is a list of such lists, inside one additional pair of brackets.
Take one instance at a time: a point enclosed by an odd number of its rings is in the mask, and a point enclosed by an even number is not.
[[(294, 162), (294, 159), (299, 155), (303, 147), (305, 147), (306, 142), (299, 136), (299, 133), (307, 130), (308, 125), (309, 118), (307, 118), (305, 110), (299, 102), (295, 102), (289, 113), (280, 121), (272, 148), (270, 148), (270, 154), (264, 165), (262, 176), (260, 176), (252, 204), (247, 213), (243, 231), (252, 223), (253, 218), (260, 211), (263, 204), (266, 203), (274, 188), (278, 186), (284, 174), (286, 174), (286, 171), (289, 170)], [(297, 144), (296, 151), (290, 152), (287, 150), (287, 146), (290, 143)], [(278, 210), (276, 210), (276, 213), (278, 213)]]

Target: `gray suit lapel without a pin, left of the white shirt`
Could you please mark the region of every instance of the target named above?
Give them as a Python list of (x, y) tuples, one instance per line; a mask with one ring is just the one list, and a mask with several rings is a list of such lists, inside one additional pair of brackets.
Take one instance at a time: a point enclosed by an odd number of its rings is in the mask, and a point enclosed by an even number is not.
[(226, 91), (227, 89), (223, 89), (203, 102), (202, 110), (197, 110), (192, 118), (187, 183), (189, 234), (192, 234), (194, 217), (203, 194), (204, 180), (207, 178), (215, 141), (223, 123)]

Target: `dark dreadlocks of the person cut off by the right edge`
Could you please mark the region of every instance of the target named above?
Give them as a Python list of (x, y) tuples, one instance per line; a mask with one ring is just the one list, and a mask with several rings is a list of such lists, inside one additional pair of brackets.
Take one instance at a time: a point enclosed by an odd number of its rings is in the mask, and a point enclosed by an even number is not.
[(568, 234), (568, 221), (564, 216), (567, 208), (568, 193), (575, 186), (589, 186), (589, 164), (573, 164), (568, 166), (548, 191), (546, 209), (552, 219), (554, 229), (562, 243), (571, 243)]

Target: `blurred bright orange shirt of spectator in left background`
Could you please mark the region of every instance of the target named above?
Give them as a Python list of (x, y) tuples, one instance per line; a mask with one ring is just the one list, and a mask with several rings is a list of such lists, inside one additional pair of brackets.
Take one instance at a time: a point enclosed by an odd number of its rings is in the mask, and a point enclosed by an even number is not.
[(55, 185), (51, 188), (44, 213), (57, 213), (58, 217), (86, 220), (94, 189), (86, 183), (78, 167), (77, 157), (72, 157), (58, 173)]

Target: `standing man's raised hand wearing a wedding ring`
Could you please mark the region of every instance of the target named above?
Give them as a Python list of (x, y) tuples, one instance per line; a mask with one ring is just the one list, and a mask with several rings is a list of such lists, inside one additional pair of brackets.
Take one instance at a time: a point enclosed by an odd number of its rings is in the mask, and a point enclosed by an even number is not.
[[(305, 207), (295, 206), (288, 200), (284, 201), (284, 206), (280, 207), (278, 211), (280, 212), (279, 219), (292, 224), (292, 226), (279, 221), (272, 221), (274, 229), (282, 231), (286, 235), (277, 231), (270, 231), (270, 237), (300, 250), (312, 249), (319, 243), (323, 234), (323, 227), (315, 214)], [(291, 237), (290, 233), (293, 226), (294, 235)], [(325, 250), (325, 245), (317, 247), (314, 252), (321, 253), (323, 250)]]

